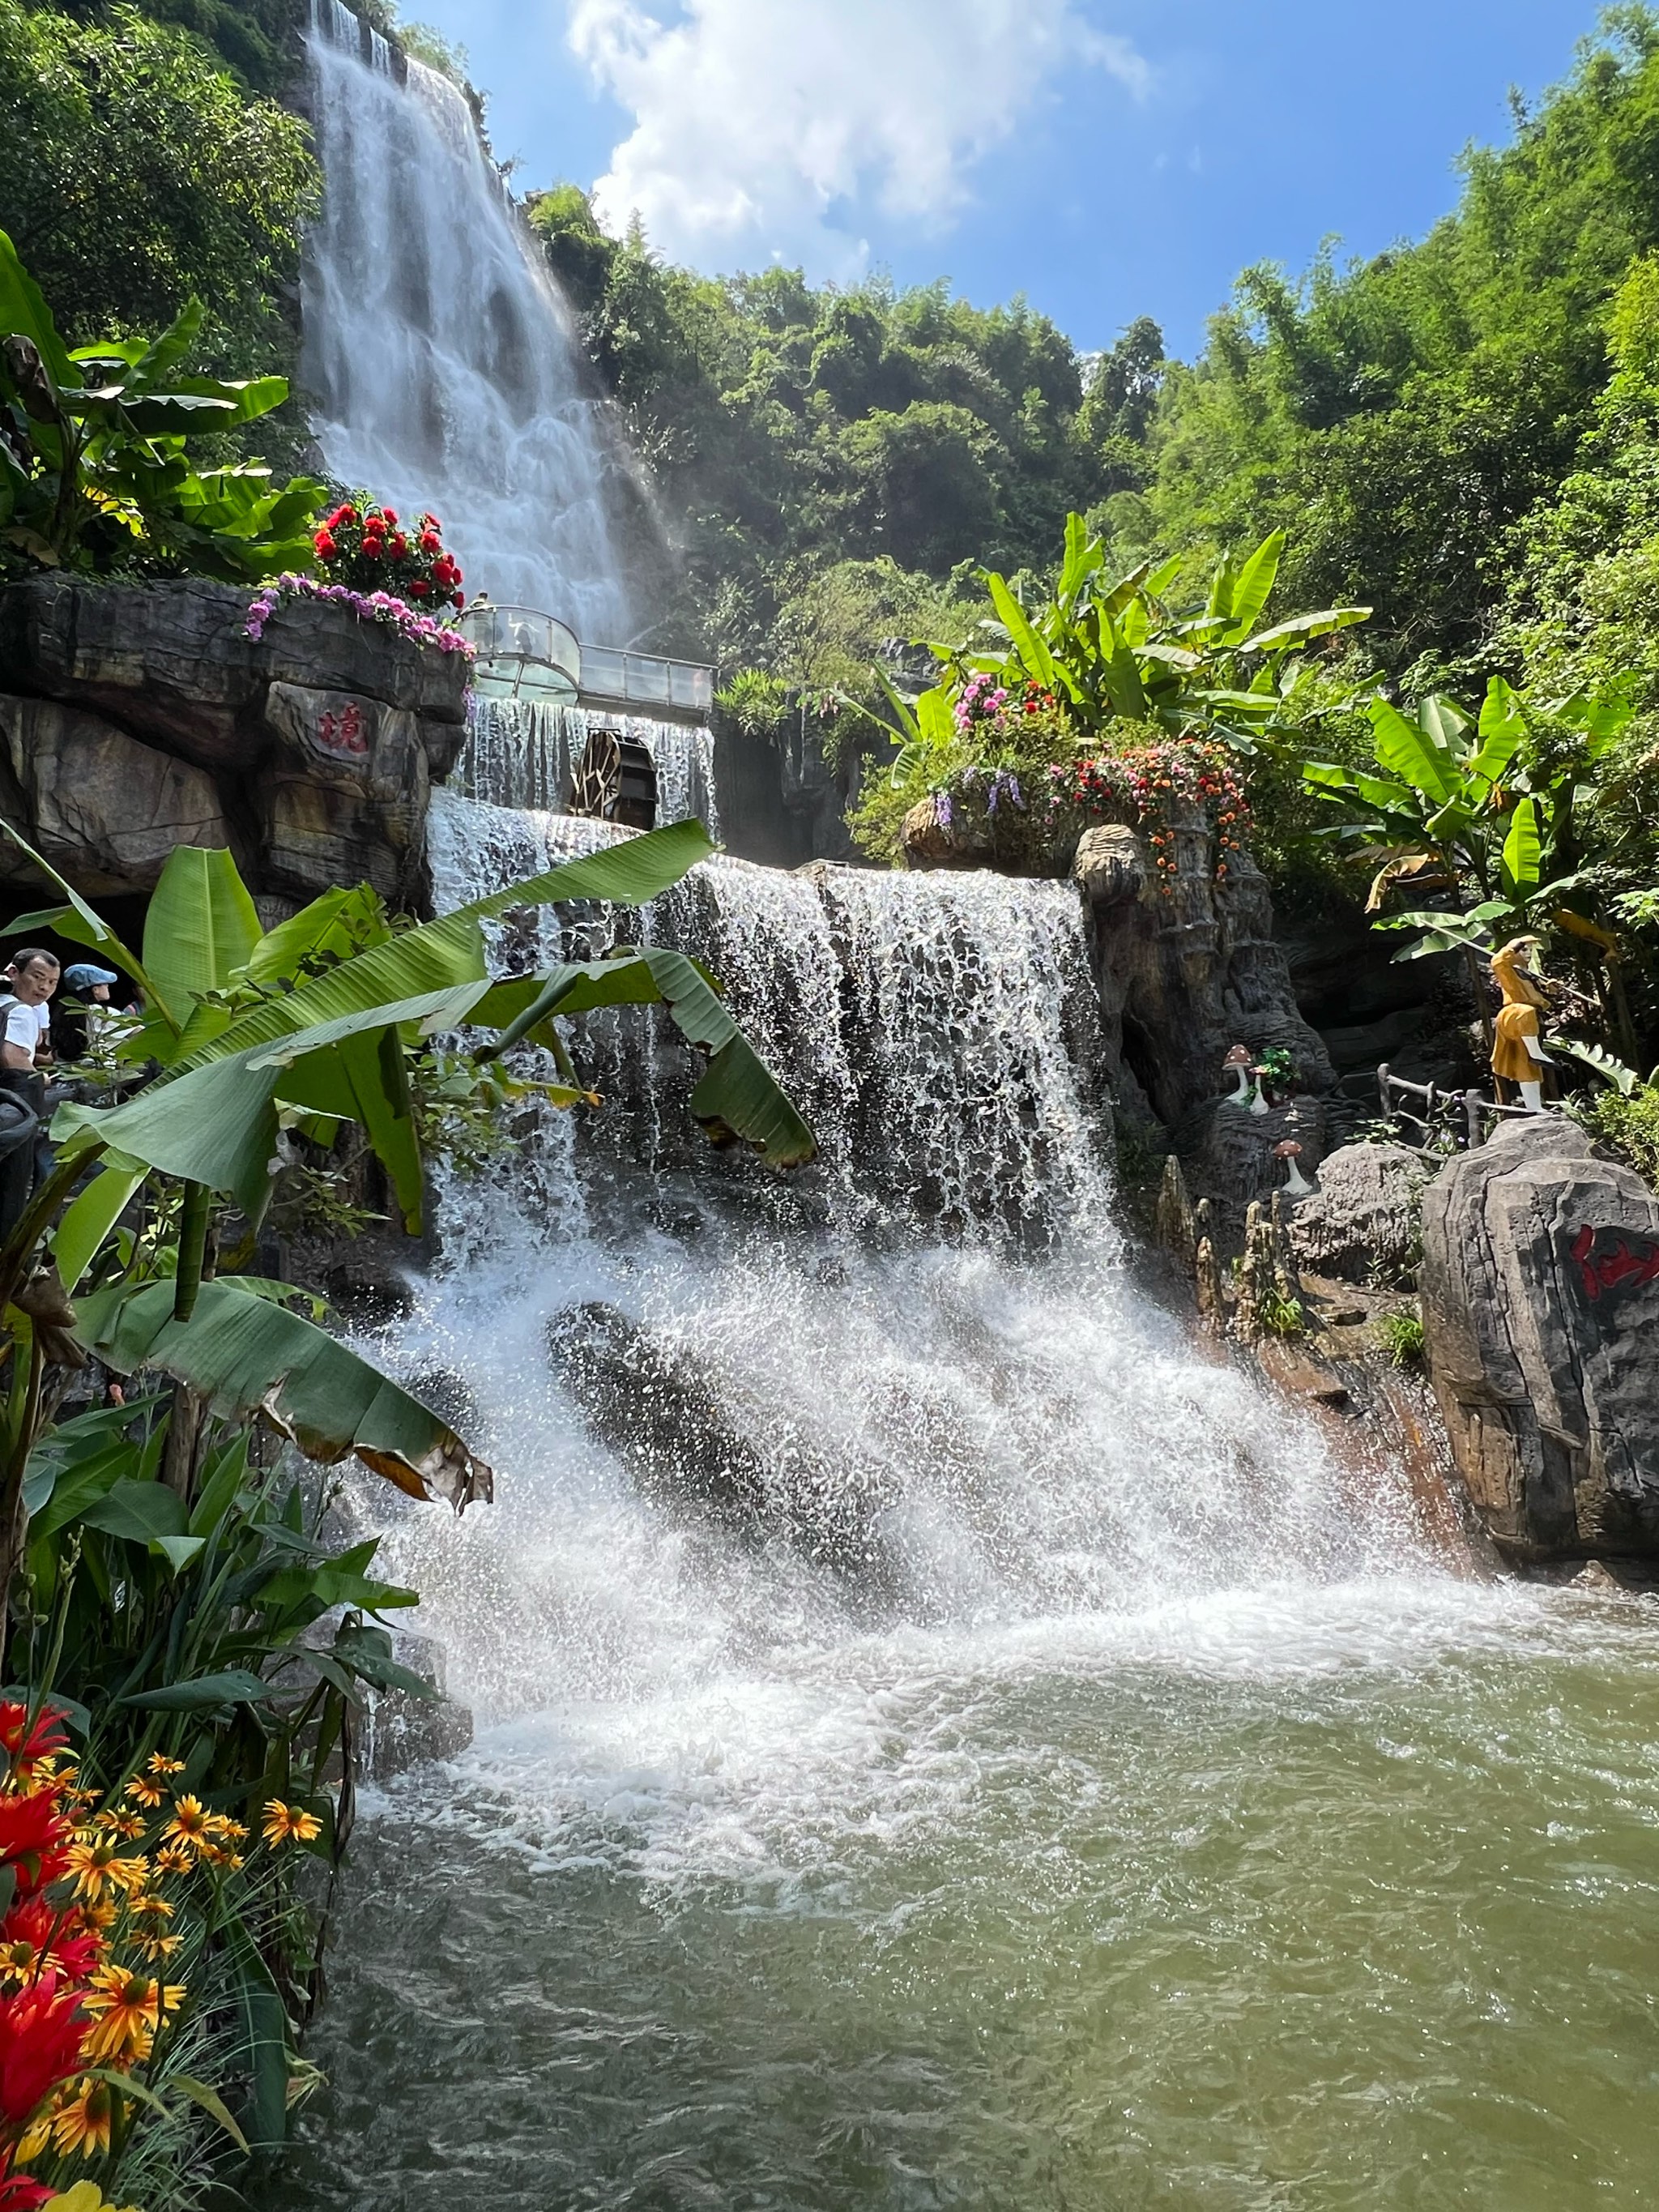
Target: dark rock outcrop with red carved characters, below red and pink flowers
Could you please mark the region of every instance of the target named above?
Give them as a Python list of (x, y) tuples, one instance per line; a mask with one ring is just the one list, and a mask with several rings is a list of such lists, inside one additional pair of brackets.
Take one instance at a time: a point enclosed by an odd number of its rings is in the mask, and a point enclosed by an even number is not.
[[(254, 641), (246, 613), (201, 580), (0, 591), (0, 812), (91, 896), (153, 889), (175, 845), (228, 845), (272, 909), (338, 883), (409, 905), (467, 659), (321, 602)], [(40, 887), (11, 847), (0, 885)]]

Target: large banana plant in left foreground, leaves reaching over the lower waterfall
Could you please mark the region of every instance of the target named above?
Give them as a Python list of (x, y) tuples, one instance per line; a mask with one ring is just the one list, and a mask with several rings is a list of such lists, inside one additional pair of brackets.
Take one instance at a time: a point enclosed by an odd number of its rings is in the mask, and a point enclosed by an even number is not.
[[(571, 1079), (538, 1088), (575, 1106), (591, 1093), (575, 1079), (557, 1022), (597, 1004), (664, 1004), (708, 1055), (690, 1106), (710, 1139), (748, 1141), (774, 1166), (814, 1155), (805, 1121), (697, 962), (646, 949), (560, 964), (551, 975), (489, 973), (484, 925), (493, 916), (557, 900), (639, 905), (708, 856), (701, 823), (628, 838), (403, 931), (367, 889), (330, 891), (263, 931), (232, 856), (181, 847), (150, 900), (142, 956), (15, 830), (7, 834), (64, 900), (18, 927), (51, 929), (122, 967), (146, 998), (146, 1018), (122, 1053), (131, 1064), (161, 1064), (122, 1104), (60, 1110), (60, 1166), (0, 1250), (13, 1345), (2, 1440), (13, 1515), (40, 1427), (29, 1407), (38, 1409), (42, 1374), (66, 1336), (71, 1349), (80, 1343), (119, 1374), (173, 1376), (221, 1420), (259, 1416), (314, 1460), (352, 1451), (411, 1495), (447, 1498), (458, 1509), (489, 1495), (489, 1467), (436, 1413), (272, 1298), (270, 1285), (208, 1276), (221, 1206), (232, 1201), (254, 1225), (265, 1212), (283, 1121), (321, 1133), (361, 1124), (405, 1221), (418, 1228), (422, 1159), (407, 1055), (434, 1031), (498, 1031), (480, 1048), (489, 1062), (522, 1040), (549, 1046)], [(153, 1179), (181, 1186), (170, 1274), (135, 1267), (117, 1230)], [(42, 1241), (58, 1303), (49, 1298), (38, 1325), (27, 1301)], [(66, 1296), (88, 1279), (95, 1287), (69, 1310)], [(0, 1531), (13, 1526), (4, 1513), (0, 1502)]]

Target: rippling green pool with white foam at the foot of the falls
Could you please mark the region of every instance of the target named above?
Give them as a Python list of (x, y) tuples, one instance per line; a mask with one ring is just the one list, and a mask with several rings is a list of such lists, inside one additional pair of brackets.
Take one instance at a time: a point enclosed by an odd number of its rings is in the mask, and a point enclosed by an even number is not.
[(814, 1644), (372, 1801), (283, 2205), (1659, 2197), (1659, 1608)]

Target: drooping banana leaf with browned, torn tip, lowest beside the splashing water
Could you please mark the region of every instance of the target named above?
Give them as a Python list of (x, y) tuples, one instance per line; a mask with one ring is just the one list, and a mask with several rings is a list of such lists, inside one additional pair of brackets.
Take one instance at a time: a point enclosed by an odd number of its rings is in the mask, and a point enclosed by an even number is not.
[(77, 1334), (117, 1374), (159, 1369), (204, 1394), (221, 1420), (263, 1416), (310, 1460), (354, 1451), (409, 1498), (462, 1511), (493, 1473), (456, 1431), (325, 1329), (234, 1279), (204, 1283), (190, 1321), (173, 1318), (173, 1283), (100, 1292)]

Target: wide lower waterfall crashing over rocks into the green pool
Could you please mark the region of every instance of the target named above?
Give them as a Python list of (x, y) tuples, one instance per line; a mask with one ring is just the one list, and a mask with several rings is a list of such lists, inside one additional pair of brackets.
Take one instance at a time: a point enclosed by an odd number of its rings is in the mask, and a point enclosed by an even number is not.
[[(440, 792), (438, 902), (622, 834)], [(500, 1504), (392, 1506), (387, 1557), (484, 1719), (606, 1712), (615, 1752), (582, 1759), (626, 1765), (639, 1699), (783, 1712), (872, 1621), (995, 1650), (1259, 1593), (1281, 1635), (1310, 1590), (1427, 1557), (1394, 1473), (1358, 1506), (1135, 1292), (1068, 885), (717, 858), (641, 914), (515, 916), (495, 960), (641, 938), (723, 980), (823, 1157), (712, 1155), (695, 1062), (624, 1011), (573, 1040), (597, 1113), (531, 1102), (495, 1168), (445, 1181), (387, 1349), (462, 1391)]]

